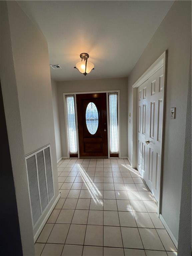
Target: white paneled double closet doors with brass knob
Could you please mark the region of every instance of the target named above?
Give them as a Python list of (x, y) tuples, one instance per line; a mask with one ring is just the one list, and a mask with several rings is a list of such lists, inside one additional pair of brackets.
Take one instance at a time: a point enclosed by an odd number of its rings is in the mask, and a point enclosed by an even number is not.
[(163, 68), (137, 90), (137, 168), (158, 200), (163, 122)]

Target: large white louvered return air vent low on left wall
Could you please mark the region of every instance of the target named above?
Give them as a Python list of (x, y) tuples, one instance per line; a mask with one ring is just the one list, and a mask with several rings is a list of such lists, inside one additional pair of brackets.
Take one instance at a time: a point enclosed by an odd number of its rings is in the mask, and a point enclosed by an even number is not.
[(34, 227), (54, 196), (50, 144), (27, 155), (25, 160)]

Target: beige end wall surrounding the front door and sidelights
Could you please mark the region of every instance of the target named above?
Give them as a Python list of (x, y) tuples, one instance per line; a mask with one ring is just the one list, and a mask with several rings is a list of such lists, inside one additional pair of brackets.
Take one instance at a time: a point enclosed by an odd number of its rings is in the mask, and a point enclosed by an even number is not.
[(91, 91), (107, 91), (120, 90), (120, 143), (121, 156), (127, 157), (127, 78), (111, 78), (111, 79), (94, 79), (57, 82), (58, 102), (59, 102), (59, 117), (62, 154), (67, 156), (65, 119), (63, 108), (63, 93), (64, 92), (91, 92)]

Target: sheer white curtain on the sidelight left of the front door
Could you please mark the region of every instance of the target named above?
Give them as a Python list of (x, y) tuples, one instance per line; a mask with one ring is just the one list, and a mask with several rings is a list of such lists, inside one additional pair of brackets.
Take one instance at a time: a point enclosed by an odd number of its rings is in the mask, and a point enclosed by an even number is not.
[(67, 134), (69, 153), (77, 154), (77, 133), (75, 122), (75, 103), (74, 95), (66, 95), (66, 107), (67, 107)]

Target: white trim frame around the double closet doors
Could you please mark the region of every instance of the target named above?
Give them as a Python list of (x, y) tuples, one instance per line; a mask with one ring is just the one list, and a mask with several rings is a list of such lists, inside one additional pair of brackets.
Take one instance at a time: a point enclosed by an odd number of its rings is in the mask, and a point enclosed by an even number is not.
[(160, 177), (158, 195), (158, 215), (161, 213), (161, 185), (163, 168), (163, 144), (164, 144), (164, 123), (165, 123), (165, 92), (166, 92), (166, 70), (167, 50), (147, 69), (147, 71), (132, 86), (132, 156), (131, 167), (136, 168), (137, 162), (137, 88), (151, 77), (157, 70), (163, 67), (163, 121), (162, 140), (160, 149)]

